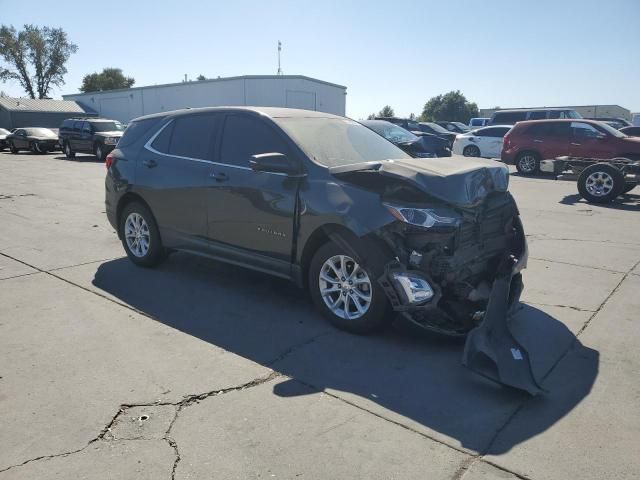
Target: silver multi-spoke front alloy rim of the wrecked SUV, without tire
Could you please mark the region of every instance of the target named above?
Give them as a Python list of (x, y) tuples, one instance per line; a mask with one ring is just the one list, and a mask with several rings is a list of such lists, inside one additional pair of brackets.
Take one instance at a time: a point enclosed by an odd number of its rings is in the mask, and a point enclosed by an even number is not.
[(335, 255), (320, 269), (320, 296), (334, 315), (345, 320), (362, 317), (371, 306), (371, 280), (347, 255)]

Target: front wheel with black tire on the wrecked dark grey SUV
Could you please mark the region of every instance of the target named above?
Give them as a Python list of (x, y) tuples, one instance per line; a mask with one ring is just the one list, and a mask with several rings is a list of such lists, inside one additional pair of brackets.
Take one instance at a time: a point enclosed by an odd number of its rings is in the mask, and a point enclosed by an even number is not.
[[(341, 261), (344, 261), (344, 264)], [(334, 268), (329, 267), (333, 262)], [(333, 242), (325, 243), (314, 254), (309, 267), (309, 290), (313, 302), (322, 314), (337, 328), (352, 333), (367, 334), (380, 330), (393, 318), (391, 306), (377, 277), (371, 273), (371, 269), (360, 266), (354, 271), (357, 262), (350, 254)], [(344, 277), (337, 277), (341, 267), (346, 269)], [(349, 280), (349, 274), (354, 274)], [(320, 278), (335, 279), (336, 283), (330, 283)], [(342, 281), (342, 278), (345, 278)], [(353, 284), (347, 282), (352, 281)], [(342, 287), (345, 288), (342, 288)], [(326, 293), (323, 297), (321, 289), (339, 289)], [(367, 295), (367, 292), (369, 294)], [(369, 298), (367, 302), (366, 298)], [(345, 300), (346, 299), (346, 300)], [(335, 301), (335, 308), (329, 303)], [(363, 313), (359, 313), (356, 303)], [(345, 309), (346, 305), (346, 309)], [(336, 313), (338, 312), (338, 313)]]

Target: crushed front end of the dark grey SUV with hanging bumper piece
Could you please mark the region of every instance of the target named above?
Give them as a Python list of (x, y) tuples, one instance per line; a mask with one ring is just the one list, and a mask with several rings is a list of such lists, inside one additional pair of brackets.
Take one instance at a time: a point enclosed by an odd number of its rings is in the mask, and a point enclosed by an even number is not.
[[(446, 165), (444, 173), (437, 164), (435, 172), (425, 172), (424, 163), (420, 167), (394, 162), (375, 169), (383, 204), (396, 219), (377, 232), (395, 257), (380, 285), (394, 310), (413, 325), (467, 336), (464, 365), (539, 393), (528, 354), (509, 331), (528, 250), (506, 169), (478, 161)], [(374, 178), (365, 171), (345, 175), (353, 183), (371, 184)]]

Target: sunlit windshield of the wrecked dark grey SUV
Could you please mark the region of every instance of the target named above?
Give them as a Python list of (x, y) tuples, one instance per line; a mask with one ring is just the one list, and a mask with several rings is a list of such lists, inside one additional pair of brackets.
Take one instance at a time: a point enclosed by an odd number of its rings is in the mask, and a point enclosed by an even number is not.
[(347, 118), (289, 117), (274, 121), (309, 158), (326, 167), (410, 158), (380, 135)]

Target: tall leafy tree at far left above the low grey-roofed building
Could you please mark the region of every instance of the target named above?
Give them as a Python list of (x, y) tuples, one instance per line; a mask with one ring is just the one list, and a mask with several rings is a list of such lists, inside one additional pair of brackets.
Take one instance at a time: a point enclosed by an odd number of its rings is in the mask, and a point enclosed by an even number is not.
[(16, 80), (31, 98), (45, 98), (54, 87), (64, 85), (65, 64), (78, 46), (61, 28), (25, 25), (0, 27), (0, 80)]

